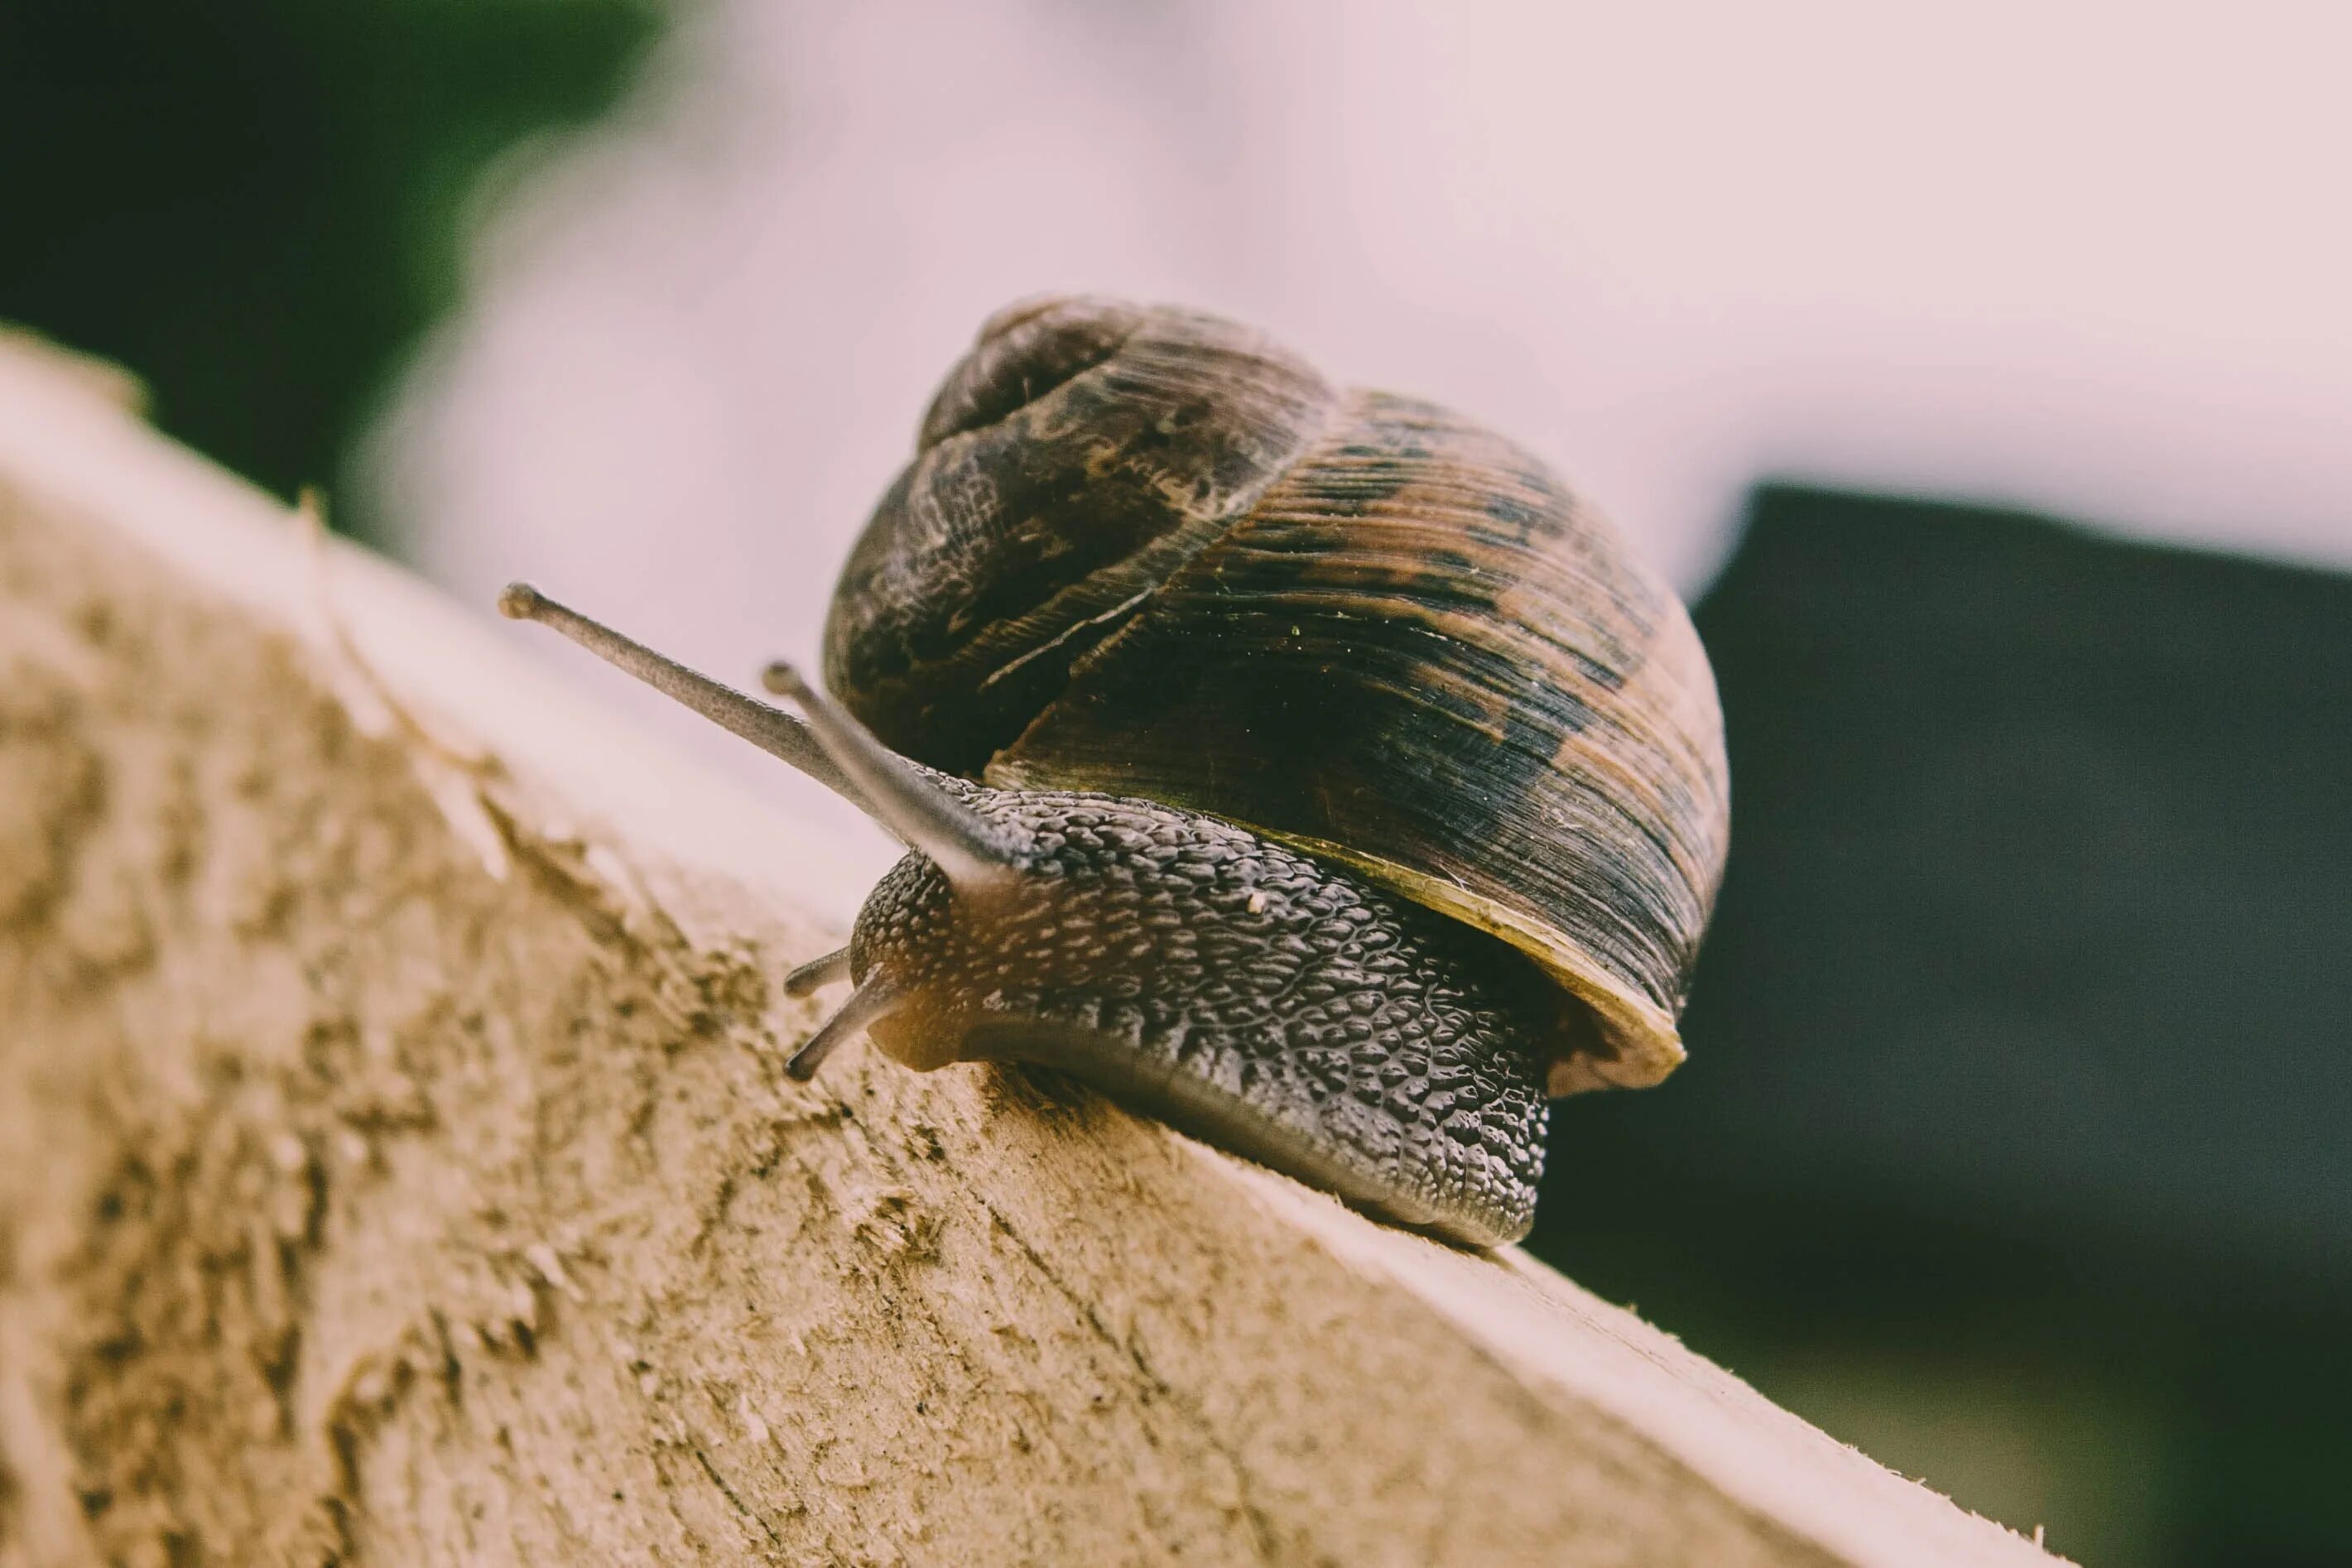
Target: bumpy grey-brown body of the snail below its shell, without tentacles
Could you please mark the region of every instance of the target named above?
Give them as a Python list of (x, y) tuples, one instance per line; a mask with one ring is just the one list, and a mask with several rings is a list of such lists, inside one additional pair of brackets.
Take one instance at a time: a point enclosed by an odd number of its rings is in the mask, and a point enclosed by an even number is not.
[(1152, 802), (957, 785), (1035, 851), (990, 889), (906, 856), (849, 943), (913, 1067), (1021, 1060), (1381, 1218), (1526, 1234), (1548, 1103), (1534, 964), (1240, 827)]

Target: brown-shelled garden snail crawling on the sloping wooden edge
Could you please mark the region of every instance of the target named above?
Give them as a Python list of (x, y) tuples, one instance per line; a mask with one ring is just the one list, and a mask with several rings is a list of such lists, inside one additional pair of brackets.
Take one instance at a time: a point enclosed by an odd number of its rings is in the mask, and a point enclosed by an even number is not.
[(1644, 1086), (1722, 875), (1689, 616), (1536, 458), (1235, 322), (990, 317), (854, 545), (802, 717), (553, 625), (906, 842), (856, 990), (917, 1070), (1065, 1070), (1390, 1222), (1534, 1222), (1548, 1100)]

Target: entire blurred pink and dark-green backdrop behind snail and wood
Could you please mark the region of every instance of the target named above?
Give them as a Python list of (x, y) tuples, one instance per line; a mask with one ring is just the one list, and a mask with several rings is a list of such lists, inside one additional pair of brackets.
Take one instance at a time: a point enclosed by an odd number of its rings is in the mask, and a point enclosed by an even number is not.
[(1691, 1065), (1559, 1110), (1534, 1251), (2082, 1561), (2343, 1563), (2345, 59), (2319, 2), (7, 0), (0, 317), (727, 677), (814, 656), (1007, 299), (1482, 416), (1691, 597), (1736, 778)]

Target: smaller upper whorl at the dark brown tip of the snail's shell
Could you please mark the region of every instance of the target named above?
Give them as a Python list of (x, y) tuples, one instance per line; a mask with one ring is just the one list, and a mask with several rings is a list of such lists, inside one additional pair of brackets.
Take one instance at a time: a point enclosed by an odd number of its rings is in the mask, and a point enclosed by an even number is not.
[(842, 569), (826, 684), (901, 752), (978, 773), (1334, 400), (1216, 317), (1096, 299), (997, 313)]

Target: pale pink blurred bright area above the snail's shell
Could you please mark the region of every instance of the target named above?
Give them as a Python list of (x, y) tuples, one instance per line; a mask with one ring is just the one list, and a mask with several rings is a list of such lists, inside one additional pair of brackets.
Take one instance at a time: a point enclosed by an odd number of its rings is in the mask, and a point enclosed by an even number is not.
[(1759, 475), (2352, 562), (2352, 7), (691, 16), (492, 183), (379, 428), (376, 505), (485, 604), (811, 658), (938, 374), (1063, 287), (1470, 409), (1689, 590)]

